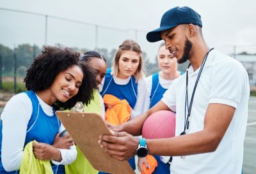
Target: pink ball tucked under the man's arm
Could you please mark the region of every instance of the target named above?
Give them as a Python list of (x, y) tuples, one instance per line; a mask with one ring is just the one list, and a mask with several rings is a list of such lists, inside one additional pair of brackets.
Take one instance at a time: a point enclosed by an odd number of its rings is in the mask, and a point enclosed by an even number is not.
[(143, 124), (142, 136), (147, 139), (175, 136), (175, 113), (162, 110), (150, 115)]

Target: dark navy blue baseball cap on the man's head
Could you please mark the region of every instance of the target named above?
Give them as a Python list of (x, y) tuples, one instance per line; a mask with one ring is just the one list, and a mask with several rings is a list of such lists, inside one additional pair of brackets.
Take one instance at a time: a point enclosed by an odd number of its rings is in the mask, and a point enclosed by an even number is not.
[(161, 18), (160, 27), (147, 34), (147, 40), (150, 42), (160, 41), (161, 32), (172, 29), (180, 24), (194, 24), (202, 27), (201, 16), (195, 10), (188, 6), (175, 7), (166, 11)]

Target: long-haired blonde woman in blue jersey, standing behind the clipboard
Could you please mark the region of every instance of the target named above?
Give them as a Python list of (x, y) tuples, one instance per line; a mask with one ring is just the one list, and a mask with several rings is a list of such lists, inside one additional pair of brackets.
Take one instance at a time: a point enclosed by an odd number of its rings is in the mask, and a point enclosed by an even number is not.
[[(118, 99), (126, 99), (132, 108), (130, 119), (143, 113), (146, 95), (143, 73), (143, 59), (140, 45), (133, 40), (125, 40), (113, 58), (112, 68), (107, 69), (100, 94), (111, 94)], [(111, 106), (107, 106), (111, 107)], [(134, 157), (129, 163), (135, 170)], [(114, 167), (114, 166), (113, 166)]]

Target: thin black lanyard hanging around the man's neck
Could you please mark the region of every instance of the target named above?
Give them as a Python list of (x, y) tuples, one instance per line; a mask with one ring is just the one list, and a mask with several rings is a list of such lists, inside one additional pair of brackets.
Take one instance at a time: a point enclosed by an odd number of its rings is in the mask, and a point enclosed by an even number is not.
[[(196, 86), (198, 84), (198, 81), (199, 81), (199, 78), (201, 76), (201, 73), (203, 71), (203, 68), (204, 68), (204, 64), (206, 62), (206, 59), (209, 55), (209, 52), (211, 52), (211, 50), (213, 50), (214, 48), (211, 48), (206, 54), (205, 54), (205, 57), (204, 57), (204, 61), (202, 62), (202, 65), (199, 69), (199, 73), (198, 73), (198, 76), (196, 78), (196, 83), (195, 83), (195, 87), (193, 89), (193, 93), (192, 93), (192, 96), (191, 96), (191, 99), (190, 99), (190, 104), (188, 103), (188, 69), (187, 69), (187, 72), (186, 72), (186, 99), (185, 99), (185, 120), (184, 120), (184, 131), (182, 133), (180, 133), (180, 135), (182, 134), (186, 134), (188, 133), (188, 130), (189, 130), (189, 117), (190, 117), (190, 113), (191, 113), (191, 108), (192, 108), (192, 103), (193, 103), (193, 99), (194, 99), (194, 95), (195, 95), (195, 91), (196, 91)], [(189, 66), (191, 66), (191, 64), (189, 64)], [(188, 68), (189, 68), (188, 66)], [(189, 105), (189, 106), (188, 106)], [(188, 108), (188, 115), (186, 117), (186, 110)]]

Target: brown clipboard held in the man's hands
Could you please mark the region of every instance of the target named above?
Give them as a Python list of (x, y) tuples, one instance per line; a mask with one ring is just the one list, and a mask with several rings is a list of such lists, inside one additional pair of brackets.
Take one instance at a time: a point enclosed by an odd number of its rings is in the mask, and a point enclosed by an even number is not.
[(99, 114), (57, 111), (56, 115), (93, 168), (113, 174), (135, 173), (128, 161), (118, 161), (100, 147), (100, 134), (111, 133)]

